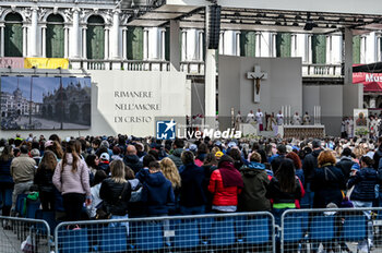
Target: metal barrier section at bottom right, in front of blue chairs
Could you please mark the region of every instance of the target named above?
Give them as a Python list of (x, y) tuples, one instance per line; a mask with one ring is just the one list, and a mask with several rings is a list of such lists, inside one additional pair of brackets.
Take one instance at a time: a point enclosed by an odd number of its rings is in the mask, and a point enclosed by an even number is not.
[(382, 252), (382, 208), (288, 209), (280, 252)]

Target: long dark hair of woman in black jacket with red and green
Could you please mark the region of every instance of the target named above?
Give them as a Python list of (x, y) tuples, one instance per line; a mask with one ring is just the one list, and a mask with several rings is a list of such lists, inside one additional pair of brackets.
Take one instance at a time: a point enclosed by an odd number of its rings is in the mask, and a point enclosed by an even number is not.
[(283, 192), (291, 193), (296, 189), (296, 173), (295, 173), (295, 165), (291, 159), (285, 159), (280, 164), (276, 174), (276, 179), (279, 183), (279, 189)]

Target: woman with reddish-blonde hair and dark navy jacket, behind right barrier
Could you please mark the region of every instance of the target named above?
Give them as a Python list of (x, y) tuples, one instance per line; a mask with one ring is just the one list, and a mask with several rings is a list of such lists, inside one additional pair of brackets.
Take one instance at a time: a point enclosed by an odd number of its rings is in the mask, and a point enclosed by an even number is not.
[(312, 176), (313, 208), (326, 208), (330, 203), (341, 206), (342, 190), (345, 190), (346, 182), (344, 173), (335, 164), (336, 159), (331, 150), (320, 153), (319, 168), (313, 171)]

